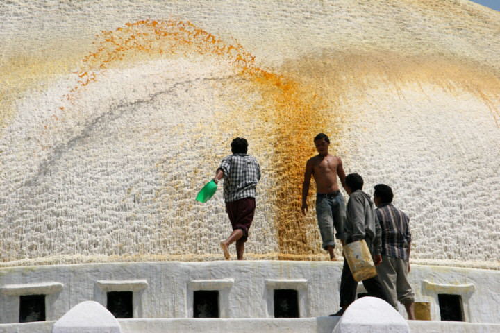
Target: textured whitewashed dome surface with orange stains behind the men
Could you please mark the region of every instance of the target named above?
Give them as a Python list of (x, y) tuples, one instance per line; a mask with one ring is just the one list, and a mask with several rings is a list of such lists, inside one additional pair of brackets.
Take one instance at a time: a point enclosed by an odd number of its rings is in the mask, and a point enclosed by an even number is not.
[(499, 268), (498, 12), (17, 0), (0, 22), (2, 266), (222, 259), (221, 191), (194, 196), (238, 135), (263, 168), (247, 258), (324, 259), (299, 214), (322, 131), (393, 187), (415, 262)]

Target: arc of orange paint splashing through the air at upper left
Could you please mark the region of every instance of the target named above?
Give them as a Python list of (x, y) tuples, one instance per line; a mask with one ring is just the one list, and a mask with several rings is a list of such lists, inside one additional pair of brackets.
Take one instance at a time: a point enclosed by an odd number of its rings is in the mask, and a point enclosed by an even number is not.
[(171, 19), (127, 23), (115, 31), (102, 31), (93, 44), (97, 46), (97, 51), (83, 58), (83, 66), (76, 73), (82, 80), (69, 92), (68, 99), (74, 98), (76, 92), (97, 80), (97, 76), (106, 69), (138, 56), (215, 56), (241, 69), (242, 74), (263, 76), (275, 85), (282, 84), (280, 76), (260, 69), (255, 56), (244, 51), (238, 41), (226, 44), (188, 21)]

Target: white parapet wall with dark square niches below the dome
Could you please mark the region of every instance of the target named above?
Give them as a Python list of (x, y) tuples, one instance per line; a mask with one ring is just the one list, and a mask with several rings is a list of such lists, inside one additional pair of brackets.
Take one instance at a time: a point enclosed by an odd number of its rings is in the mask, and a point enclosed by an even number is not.
[[(0, 323), (19, 322), (19, 298), (44, 294), (47, 321), (80, 302), (106, 307), (108, 292), (133, 293), (133, 318), (192, 318), (193, 293), (219, 291), (220, 318), (274, 318), (274, 290), (297, 291), (299, 318), (338, 310), (342, 262), (133, 262), (0, 269)], [(461, 298), (469, 323), (500, 324), (500, 272), (412, 265), (415, 301), (441, 320), (440, 294)], [(363, 287), (358, 287), (363, 293)], [(401, 307), (401, 316), (406, 314)], [(27, 325), (27, 324), (22, 324)], [(1, 331), (0, 331), (1, 332)]]

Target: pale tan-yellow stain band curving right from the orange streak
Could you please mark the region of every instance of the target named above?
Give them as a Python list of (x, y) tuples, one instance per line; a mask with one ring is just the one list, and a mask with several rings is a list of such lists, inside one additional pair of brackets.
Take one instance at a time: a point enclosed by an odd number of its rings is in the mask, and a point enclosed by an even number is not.
[(500, 119), (500, 73), (451, 56), (420, 58), (387, 50), (347, 50), (292, 60), (282, 71), (302, 82), (308, 80), (329, 108), (337, 108), (347, 99), (362, 105), (368, 89), (394, 89), (394, 98), (404, 99), (403, 87), (417, 85), (426, 95), (433, 86), (452, 96), (472, 94), (483, 101), (497, 124)]

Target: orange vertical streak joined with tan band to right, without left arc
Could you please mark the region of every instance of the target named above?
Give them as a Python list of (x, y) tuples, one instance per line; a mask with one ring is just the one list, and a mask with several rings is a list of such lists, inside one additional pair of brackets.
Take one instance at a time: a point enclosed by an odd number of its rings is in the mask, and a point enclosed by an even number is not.
[[(458, 98), (464, 93), (472, 94), (489, 108), (497, 124), (500, 117), (500, 76), (481, 64), (450, 57), (422, 59), (390, 51), (324, 52), (290, 60), (279, 70), (287, 73), (292, 84), (274, 94), (278, 105), (274, 120), (277, 142), (283, 143), (276, 144), (278, 162), (273, 168), (279, 182), (275, 224), (281, 253), (302, 254), (304, 259), (318, 253), (319, 246), (314, 244), (319, 233), (310, 232), (311, 236), (306, 237), (306, 230), (317, 227), (314, 218), (303, 219), (299, 214), (303, 167), (315, 154), (312, 141), (319, 132), (331, 135), (331, 153), (342, 151), (338, 140), (343, 123), (347, 117), (356, 117), (356, 112), (346, 110), (343, 102), (350, 99), (366, 107), (363, 101), (369, 89), (393, 89), (394, 99), (404, 99), (403, 88), (415, 85), (420, 94), (428, 94), (430, 99), (430, 89), (440, 87)], [(314, 196), (310, 193), (309, 197), (309, 206), (313, 207)]]

